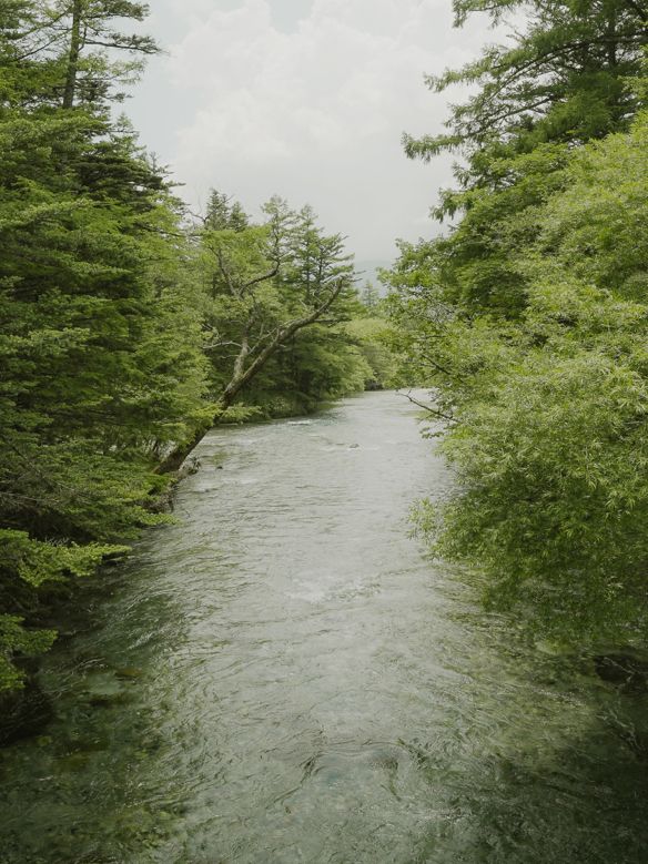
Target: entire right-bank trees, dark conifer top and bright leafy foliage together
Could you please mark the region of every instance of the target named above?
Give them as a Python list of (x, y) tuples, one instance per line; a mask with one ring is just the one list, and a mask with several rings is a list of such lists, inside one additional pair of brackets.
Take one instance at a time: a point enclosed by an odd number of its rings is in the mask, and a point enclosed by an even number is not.
[(448, 131), (404, 142), (462, 157), (434, 211), (449, 231), (388, 274), (457, 478), (416, 519), (530, 632), (645, 644), (648, 8), (454, 3), (458, 26), (518, 7), (524, 32), (428, 79), (472, 88)]

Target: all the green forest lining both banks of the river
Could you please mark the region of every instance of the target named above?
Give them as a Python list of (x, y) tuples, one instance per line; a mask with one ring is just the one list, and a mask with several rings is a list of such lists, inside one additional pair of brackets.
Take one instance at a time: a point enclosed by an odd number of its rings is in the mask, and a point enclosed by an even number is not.
[(404, 136), (457, 154), (449, 225), (401, 244), (383, 302), (308, 206), (188, 212), (115, 111), (159, 50), (128, 30), (144, 4), (2, 4), (1, 691), (75, 581), (169, 518), (211, 426), (402, 383), (433, 392), (456, 472), (415, 514), (436, 555), (533, 632), (646, 641), (648, 10), (454, 2), (458, 27), (518, 8), (522, 32), (427, 80), (470, 92)]

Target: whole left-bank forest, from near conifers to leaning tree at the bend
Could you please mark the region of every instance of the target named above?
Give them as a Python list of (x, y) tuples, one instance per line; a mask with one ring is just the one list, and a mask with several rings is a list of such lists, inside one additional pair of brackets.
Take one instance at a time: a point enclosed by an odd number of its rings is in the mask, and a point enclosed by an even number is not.
[(0, 691), (74, 583), (163, 521), (216, 421), (389, 385), (386, 323), (340, 235), (275, 197), (192, 217), (118, 116), (158, 51), (125, 0), (0, 7)]

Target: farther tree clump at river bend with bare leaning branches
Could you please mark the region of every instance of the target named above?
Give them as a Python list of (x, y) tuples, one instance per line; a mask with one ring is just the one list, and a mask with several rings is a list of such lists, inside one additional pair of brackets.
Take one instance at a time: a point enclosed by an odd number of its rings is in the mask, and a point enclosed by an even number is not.
[(362, 389), (371, 370), (340, 326), (362, 312), (343, 238), (326, 236), (310, 207), (275, 197), (263, 212), (254, 224), (211, 194), (199, 257), (205, 350), (221, 410), (244, 399), (286, 416)]

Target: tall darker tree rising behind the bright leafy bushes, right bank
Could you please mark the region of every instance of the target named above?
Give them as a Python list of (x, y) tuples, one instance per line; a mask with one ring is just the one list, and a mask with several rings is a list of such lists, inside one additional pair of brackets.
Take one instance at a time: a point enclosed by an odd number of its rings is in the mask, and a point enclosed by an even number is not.
[[(487, 11), (499, 21), (522, 6), (498, 0)], [(456, 0), (454, 8), (462, 24), (484, 4)], [(509, 317), (526, 302), (516, 253), (536, 236), (536, 209), (560, 187), (574, 146), (628, 128), (640, 103), (628, 82), (641, 74), (648, 41), (646, 10), (635, 0), (534, 2), (524, 11), (526, 30), (512, 44), (428, 78), (435, 91), (457, 82), (476, 89), (453, 108), (449, 132), (404, 139), (411, 157), (450, 151), (465, 160), (458, 187), (442, 192), (434, 211), (462, 221), (425, 246), (443, 301)]]

